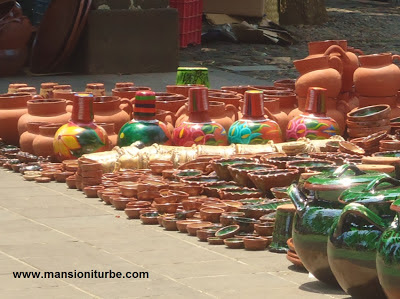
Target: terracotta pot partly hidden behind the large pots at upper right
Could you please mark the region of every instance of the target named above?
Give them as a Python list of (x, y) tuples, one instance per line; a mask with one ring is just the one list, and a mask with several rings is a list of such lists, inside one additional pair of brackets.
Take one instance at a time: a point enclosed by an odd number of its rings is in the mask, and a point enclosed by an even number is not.
[[(320, 56), (339, 55), (343, 62), (342, 89), (341, 92), (353, 90), (353, 75), (359, 67), (359, 61), (354, 49), (347, 46), (346, 40), (326, 40), (308, 43), (307, 58)], [(361, 50), (357, 50), (362, 53)]]

